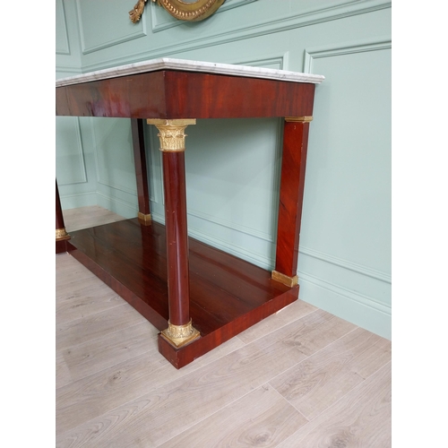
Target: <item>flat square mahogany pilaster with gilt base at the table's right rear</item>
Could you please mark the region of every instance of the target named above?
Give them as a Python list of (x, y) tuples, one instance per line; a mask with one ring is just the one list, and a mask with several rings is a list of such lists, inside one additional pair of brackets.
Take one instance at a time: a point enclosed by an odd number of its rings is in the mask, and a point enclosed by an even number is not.
[(312, 116), (286, 117), (281, 160), (277, 252), (272, 279), (297, 285), (298, 241), (305, 187), (306, 150)]

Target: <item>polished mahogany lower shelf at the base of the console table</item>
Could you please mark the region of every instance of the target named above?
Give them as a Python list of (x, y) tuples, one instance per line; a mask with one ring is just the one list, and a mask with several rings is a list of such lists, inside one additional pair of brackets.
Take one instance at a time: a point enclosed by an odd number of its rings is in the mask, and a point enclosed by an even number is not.
[[(180, 368), (298, 298), (271, 272), (189, 238), (190, 316), (201, 338), (179, 349), (159, 335), (159, 351)], [(71, 232), (67, 251), (159, 331), (168, 327), (165, 227), (137, 219)]]

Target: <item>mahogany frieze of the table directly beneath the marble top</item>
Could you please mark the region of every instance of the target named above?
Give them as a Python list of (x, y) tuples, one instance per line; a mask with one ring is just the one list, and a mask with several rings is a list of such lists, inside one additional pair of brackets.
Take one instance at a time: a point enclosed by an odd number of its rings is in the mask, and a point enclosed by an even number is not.
[(56, 88), (57, 116), (312, 116), (314, 84), (166, 71)]

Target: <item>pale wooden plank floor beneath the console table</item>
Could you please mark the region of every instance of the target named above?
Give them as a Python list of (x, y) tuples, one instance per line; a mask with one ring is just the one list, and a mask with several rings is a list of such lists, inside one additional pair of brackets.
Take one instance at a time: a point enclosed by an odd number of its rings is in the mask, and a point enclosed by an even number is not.
[[(65, 211), (71, 230), (120, 220)], [(157, 329), (56, 255), (57, 447), (391, 446), (391, 342), (298, 300), (177, 370)]]

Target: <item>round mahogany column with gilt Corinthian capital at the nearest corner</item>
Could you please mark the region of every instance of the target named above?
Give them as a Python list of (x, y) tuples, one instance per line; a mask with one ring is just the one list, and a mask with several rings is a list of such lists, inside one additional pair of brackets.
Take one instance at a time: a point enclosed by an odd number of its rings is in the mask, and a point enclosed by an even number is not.
[(190, 287), (188, 275), (188, 233), (185, 190), (185, 128), (195, 119), (149, 119), (160, 134), (163, 185), (165, 192), (165, 228), (168, 267), (168, 329), (161, 336), (175, 347), (200, 337), (190, 319)]

